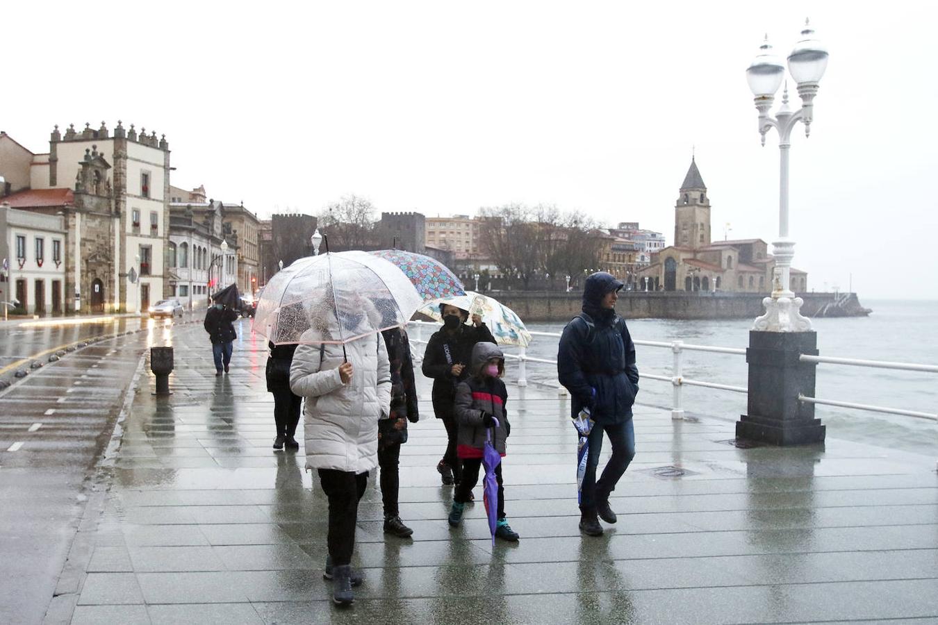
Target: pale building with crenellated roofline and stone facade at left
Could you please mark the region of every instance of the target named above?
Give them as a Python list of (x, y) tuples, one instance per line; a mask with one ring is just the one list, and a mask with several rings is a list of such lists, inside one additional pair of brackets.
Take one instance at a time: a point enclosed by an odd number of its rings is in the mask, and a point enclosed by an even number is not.
[(64, 134), (55, 126), (48, 153), (4, 134), (0, 156), (0, 175), (11, 183), (0, 191), (11, 206), (65, 217), (68, 312), (145, 311), (169, 294), (165, 136), (119, 121), (113, 134), (103, 122)]

